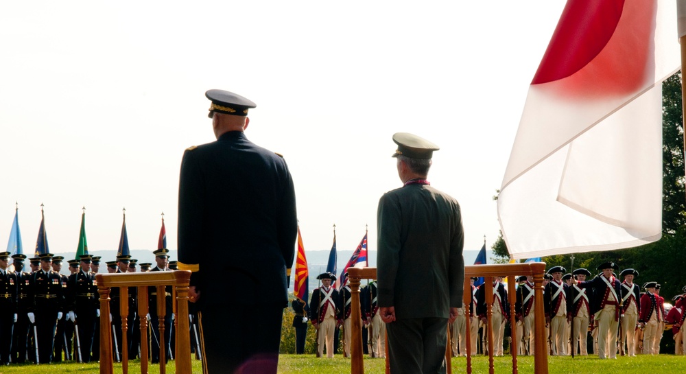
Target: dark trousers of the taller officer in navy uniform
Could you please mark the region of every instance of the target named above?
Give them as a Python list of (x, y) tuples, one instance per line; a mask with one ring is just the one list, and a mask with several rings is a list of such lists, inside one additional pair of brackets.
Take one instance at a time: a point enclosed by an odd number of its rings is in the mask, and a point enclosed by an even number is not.
[(198, 320), (203, 373), (276, 373), (284, 307), (285, 302), (202, 305)]

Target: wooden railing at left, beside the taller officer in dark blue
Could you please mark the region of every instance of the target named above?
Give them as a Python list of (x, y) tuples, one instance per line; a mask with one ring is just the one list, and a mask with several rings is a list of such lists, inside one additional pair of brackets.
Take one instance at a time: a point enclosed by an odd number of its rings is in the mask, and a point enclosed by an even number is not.
[[(176, 373), (191, 373), (191, 347), (188, 344), (189, 319), (188, 319), (188, 285), (191, 279), (189, 271), (168, 271), (168, 272), (132, 272), (124, 274), (97, 274), (97, 290), (100, 294), (100, 373), (112, 374), (113, 350), (112, 350), (112, 328), (110, 323), (110, 313), (112, 318), (119, 318), (121, 315), (121, 329), (123, 331), (121, 344), (122, 353), (122, 372), (128, 374), (128, 349), (126, 349), (126, 331), (128, 328), (128, 288), (135, 287), (138, 292), (138, 310), (141, 316), (141, 373), (147, 374), (147, 288), (156, 287), (158, 295), (165, 294), (165, 286), (173, 287), (172, 294), (176, 294), (174, 300), (174, 310), (176, 318), (174, 329), (176, 331)], [(119, 311), (110, 311), (110, 289), (119, 288)], [(157, 298), (157, 313), (160, 320), (160, 373), (165, 374), (165, 342), (164, 342), (164, 320), (166, 314), (165, 298)], [(133, 321), (130, 321), (133, 323)]]

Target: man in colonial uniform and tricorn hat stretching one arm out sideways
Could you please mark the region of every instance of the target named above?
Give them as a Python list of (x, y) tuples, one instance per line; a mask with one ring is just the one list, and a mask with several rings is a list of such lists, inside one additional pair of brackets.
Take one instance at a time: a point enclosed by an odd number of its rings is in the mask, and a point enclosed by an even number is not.
[(598, 277), (585, 282), (573, 279), (572, 283), (579, 288), (593, 290), (591, 314), (595, 314), (595, 319), (598, 320), (598, 357), (614, 359), (617, 357), (617, 331), (622, 301), (619, 295), (622, 286), (615, 278), (613, 270), (619, 270), (619, 267), (614, 262), (605, 262), (598, 266), (598, 270), (602, 270)]

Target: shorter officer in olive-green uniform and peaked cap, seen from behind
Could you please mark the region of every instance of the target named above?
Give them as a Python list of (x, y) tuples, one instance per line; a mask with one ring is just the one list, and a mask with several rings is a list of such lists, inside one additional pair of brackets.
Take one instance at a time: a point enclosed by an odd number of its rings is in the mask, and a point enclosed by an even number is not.
[(447, 326), (464, 289), (460, 205), (429, 185), (438, 146), (416, 135), (393, 135), (403, 187), (381, 196), (377, 209), (379, 312), (387, 323), (390, 370), (445, 371)]

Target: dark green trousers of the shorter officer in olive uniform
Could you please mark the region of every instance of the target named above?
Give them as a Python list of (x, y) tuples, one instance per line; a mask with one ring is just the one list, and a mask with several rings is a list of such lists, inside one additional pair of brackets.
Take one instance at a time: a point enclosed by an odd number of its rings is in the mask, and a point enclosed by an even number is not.
[(447, 318), (405, 318), (389, 323), (390, 372), (445, 373), (447, 327)]

